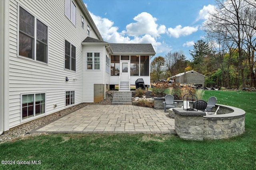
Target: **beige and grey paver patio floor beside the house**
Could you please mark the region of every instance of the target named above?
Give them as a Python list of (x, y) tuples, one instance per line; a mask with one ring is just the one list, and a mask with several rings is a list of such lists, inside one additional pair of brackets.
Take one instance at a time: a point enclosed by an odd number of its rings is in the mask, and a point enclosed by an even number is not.
[(133, 105), (88, 105), (30, 133), (171, 133), (164, 109)]

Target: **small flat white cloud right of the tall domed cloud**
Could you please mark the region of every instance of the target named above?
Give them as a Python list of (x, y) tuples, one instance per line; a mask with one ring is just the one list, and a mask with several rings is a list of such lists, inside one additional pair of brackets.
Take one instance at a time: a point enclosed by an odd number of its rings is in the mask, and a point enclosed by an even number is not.
[(197, 27), (186, 26), (182, 28), (181, 25), (177, 25), (175, 28), (168, 28), (168, 34), (170, 37), (179, 38), (180, 36), (190, 35), (193, 32), (196, 32), (197, 30), (198, 30), (198, 26)]

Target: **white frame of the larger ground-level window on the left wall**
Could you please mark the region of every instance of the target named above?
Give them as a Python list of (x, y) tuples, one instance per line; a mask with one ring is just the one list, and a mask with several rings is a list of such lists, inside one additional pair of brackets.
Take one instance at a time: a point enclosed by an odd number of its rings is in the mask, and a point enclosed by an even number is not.
[[(24, 95), (30, 95), (30, 94), (33, 94), (34, 95), (34, 102), (33, 102), (33, 116), (31, 117), (28, 117), (28, 118), (25, 118), (25, 119), (22, 119), (22, 98)], [(39, 115), (36, 115), (36, 94), (44, 94), (44, 113), (40, 113)], [(20, 94), (20, 121), (21, 122), (24, 122), (24, 121), (29, 121), (29, 120), (32, 120), (32, 119), (35, 119), (37, 117), (41, 117), (42, 115), (45, 115), (46, 114), (46, 92), (31, 92), (31, 93), (21, 93)]]

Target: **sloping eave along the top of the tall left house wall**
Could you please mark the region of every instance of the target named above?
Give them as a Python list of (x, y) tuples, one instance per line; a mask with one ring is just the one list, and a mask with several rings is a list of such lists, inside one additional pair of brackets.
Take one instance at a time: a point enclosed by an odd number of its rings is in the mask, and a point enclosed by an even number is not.
[(76, 0), (76, 2), (78, 4), (78, 6), (82, 9), (82, 13), (84, 14), (85, 18), (88, 20), (90, 25), (93, 26), (94, 31), (95, 31), (96, 35), (98, 36), (98, 38), (103, 41), (103, 38), (100, 35), (100, 31), (98, 30), (94, 21), (92, 20), (92, 17), (90, 15), (89, 11), (87, 10), (86, 6), (84, 5), (84, 2), (82, 0)]

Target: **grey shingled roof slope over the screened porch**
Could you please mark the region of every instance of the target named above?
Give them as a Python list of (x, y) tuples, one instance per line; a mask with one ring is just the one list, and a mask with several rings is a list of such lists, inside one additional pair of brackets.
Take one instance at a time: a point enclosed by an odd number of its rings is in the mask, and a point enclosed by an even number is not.
[(118, 44), (110, 43), (114, 54), (155, 55), (152, 44)]

